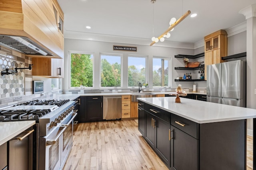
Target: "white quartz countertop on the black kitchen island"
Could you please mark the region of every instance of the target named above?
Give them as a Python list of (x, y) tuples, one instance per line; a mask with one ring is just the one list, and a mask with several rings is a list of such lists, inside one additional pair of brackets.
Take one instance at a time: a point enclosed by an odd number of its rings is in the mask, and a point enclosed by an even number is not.
[(256, 118), (256, 109), (216, 104), (187, 98), (180, 98), (181, 103), (175, 103), (175, 98), (176, 97), (138, 98), (138, 100), (196, 123), (212, 123)]

